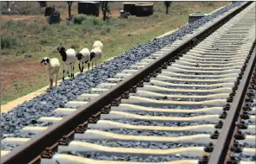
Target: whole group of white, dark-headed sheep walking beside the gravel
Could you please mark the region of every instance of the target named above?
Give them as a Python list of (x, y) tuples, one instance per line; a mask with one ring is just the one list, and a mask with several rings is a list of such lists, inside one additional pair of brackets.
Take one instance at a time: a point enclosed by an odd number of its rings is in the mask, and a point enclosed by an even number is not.
[[(83, 65), (88, 63), (88, 69), (89, 69), (89, 63), (93, 63), (95, 61), (95, 66), (98, 65), (99, 60), (102, 58), (102, 48), (103, 44), (101, 41), (95, 41), (93, 45), (93, 49), (89, 51), (89, 48), (82, 48), (82, 50), (79, 53), (75, 52), (75, 49), (69, 48), (65, 49), (65, 47), (57, 47), (57, 51), (62, 55), (62, 66), (63, 66), (63, 74), (62, 74), (62, 80), (64, 80), (64, 74), (65, 70), (68, 69), (70, 66), (70, 73), (71, 78), (74, 78), (74, 70), (75, 70), (75, 61), (78, 60), (78, 66), (79, 70), (82, 73), (83, 72)], [(43, 58), (41, 63), (44, 63), (45, 66), (48, 68), (49, 72), (49, 88), (52, 88), (53, 86), (53, 79), (56, 75), (56, 85), (58, 80), (58, 73), (61, 67), (61, 63), (57, 58), (49, 59), (49, 57)], [(69, 71), (67, 71), (69, 76)], [(70, 76), (69, 76), (70, 77)]]

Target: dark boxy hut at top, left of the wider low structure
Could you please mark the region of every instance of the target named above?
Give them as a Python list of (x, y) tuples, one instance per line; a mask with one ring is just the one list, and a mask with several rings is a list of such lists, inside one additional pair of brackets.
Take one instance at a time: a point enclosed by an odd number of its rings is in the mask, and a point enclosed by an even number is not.
[(99, 16), (100, 14), (100, 3), (81, 1), (78, 2), (78, 14), (85, 14), (88, 16)]

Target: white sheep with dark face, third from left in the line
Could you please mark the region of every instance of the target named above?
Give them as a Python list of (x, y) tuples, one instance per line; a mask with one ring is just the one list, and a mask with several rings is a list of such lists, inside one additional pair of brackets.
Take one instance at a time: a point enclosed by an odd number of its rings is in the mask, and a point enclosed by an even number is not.
[(93, 59), (93, 57), (90, 56), (88, 48), (82, 48), (82, 50), (78, 54), (76, 54), (75, 57), (79, 61), (78, 66), (81, 73), (83, 72), (83, 64), (85, 63), (88, 63), (89, 70), (89, 62)]

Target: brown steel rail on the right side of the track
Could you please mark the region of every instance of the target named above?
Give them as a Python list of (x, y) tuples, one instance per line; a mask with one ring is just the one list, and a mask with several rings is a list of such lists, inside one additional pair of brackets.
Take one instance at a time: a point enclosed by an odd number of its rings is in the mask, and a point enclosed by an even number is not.
[(256, 63), (256, 47), (254, 43), (255, 41), (253, 42), (253, 54), (251, 55), (251, 58), (246, 66), (245, 73), (233, 98), (233, 103), (230, 105), (230, 110), (227, 114), (222, 130), (220, 131), (220, 136), (218, 137), (216, 146), (213, 148), (213, 153), (210, 156), (208, 164), (222, 164), (226, 160), (226, 154), (232, 141), (236, 121), (240, 116), (240, 110), (242, 108), (242, 104), (244, 103), (246, 91), (252, 78), (253, 68)]

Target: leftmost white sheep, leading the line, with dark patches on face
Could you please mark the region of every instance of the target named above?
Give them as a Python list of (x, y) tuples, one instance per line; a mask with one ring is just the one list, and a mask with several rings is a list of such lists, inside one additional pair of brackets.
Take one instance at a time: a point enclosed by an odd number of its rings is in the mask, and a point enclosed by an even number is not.
[(56, 75), (56, 85), (58, 80), (58, 74), (61, 67), (60, 61), (56, 58), (49, 59), (48, 57), (43, 58), (41, 63), (47, 66), (49, 73), (49, 88), (52, 88), (54, 75)]

